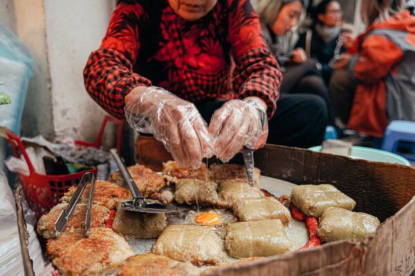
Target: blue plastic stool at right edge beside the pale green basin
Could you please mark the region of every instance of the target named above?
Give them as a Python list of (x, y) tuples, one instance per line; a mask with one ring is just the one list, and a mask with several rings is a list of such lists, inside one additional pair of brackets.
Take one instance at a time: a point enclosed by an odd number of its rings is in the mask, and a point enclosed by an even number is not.
[[(396, 152), (398, 142), (404, 141), (412, 148), (413, 155), (406, 155)], [(415, 161), (415, 122), (414, 121), (391, 121), (387, 126), (381, 148), (389, 152), (402, 155), (409, 161)]]

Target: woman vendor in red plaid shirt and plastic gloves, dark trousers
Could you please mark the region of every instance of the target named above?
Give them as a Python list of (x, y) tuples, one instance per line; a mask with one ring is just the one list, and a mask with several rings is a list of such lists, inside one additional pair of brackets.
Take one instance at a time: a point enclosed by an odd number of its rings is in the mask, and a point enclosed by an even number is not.
[(326, 104), (279, 95), (281, 79), (249, 0), (118, 1), (84, 69), (104, 110), (193, 168), (263, 146), (267, 134), (270, 144), (321, 144)]

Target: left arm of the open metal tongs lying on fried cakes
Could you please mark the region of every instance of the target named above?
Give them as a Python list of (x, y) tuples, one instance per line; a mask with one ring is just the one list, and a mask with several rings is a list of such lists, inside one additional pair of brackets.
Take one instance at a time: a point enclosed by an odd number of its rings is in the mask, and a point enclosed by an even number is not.
[[(91, 183), (91, 187), (93, 187), (92, 182), (95, 182), (95, 177), (93, 173), (86, 172), (82, 176), (80, 184), (78, 184), (75, 193), (73, 193), (71, 200), (68, 203), (68, 206), (66, 206), (65, 210), (63, 210), (62, 213), (60, 213), (59, 217), (55, 221), (56, 235), (59, 235), (59, 233), (62, 233), (64, 231), (66, 223), (68, 222), (68, 219), (71, 217), (77, 202), (80, 200), (82, 192), (84, 192), (84, 189), (86, 187), (86, 184)], [(90, 194), (91, 190), (92, 189), (90, 188)]]

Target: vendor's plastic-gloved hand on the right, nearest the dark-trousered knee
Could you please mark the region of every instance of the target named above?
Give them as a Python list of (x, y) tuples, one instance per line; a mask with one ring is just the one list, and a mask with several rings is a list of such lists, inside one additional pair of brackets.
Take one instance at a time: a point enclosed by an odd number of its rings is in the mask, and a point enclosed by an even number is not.
[(266, 112), (256, 101), (227, 101), (214, 112), (209, 132), (215, 139), (214, 154), (227, 162), (242, 146), (255, 149), (264, 146), (268, 136)]

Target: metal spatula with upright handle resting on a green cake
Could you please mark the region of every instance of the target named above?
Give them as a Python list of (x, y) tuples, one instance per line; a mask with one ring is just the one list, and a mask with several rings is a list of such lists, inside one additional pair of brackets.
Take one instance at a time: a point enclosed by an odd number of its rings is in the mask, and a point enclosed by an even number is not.
[(121, 208), (124, 210), (129, 210), (132, 212), (141, 212), (141, 213), (173, 213), (178, 212), (178, 208), (171, 204), (161, 204), (157, 202), (147, 201), (142, 197), (140, 190), (138, 190), (136, 183), (133, 180), (133, 177), (129, 174), (127, 167), (124, 165), (120, 155), (115, 148), (109, 150), (111, 155), (116, 161), (122, 176), (124, 177), (125, 181), (127, 182), (128, 188), (131, 191), (131, 195), (133, 195), (132, 201), (122, 202)]

